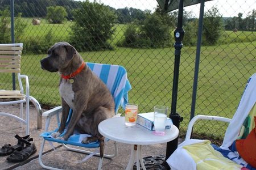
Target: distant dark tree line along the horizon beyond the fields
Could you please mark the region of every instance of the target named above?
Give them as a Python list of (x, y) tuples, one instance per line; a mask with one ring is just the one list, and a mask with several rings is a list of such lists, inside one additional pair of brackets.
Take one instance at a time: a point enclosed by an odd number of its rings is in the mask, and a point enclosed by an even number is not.
[[(15, 0), (15, 16), (18, 16), (19, 13), (22, 13), (22, 17), (38, 17), (45, 18), (47, 16), (47, 7), (62, 6), (67, 12), (65, 16), (68, 20), (73, 20), (72, 10), (76, 8), (81, 8), (81, 1), (74, 0)], [(3, 11), (6, 7), (10, 8), (10, 0), (0, 1), (0, 10)], [(114, 14), (117, 15), (117, 22), (120, 24), (126, 24), (134, 22), (135, 20), (143, 22), (148, 14), (148, 10), (139, 10), (137, 8), (118, 8), (115, 9), (110, 7), (111, 11), (114, 11)], [(231, 31), (238, 29), (239, 31), (255, 31), (256, 30), (256, 12), (255, 10), (249, 11), (245, 19), (242, 18), (244, 14), (239, 13), (238, 16), (233, 18), (224, 18), (223, 24), (225, 30)], [(184, 17), (184, 20), (186, 18)], [(185, 21), (186, 22), (186, 21)], [(175, 23), (174, 23), (175, 24)]]

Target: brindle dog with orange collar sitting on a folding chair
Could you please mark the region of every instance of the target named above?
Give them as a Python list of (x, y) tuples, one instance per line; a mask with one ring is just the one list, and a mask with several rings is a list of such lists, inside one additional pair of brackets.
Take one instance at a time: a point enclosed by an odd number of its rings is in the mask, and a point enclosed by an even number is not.
[[(81, 133), (92, 135), (82, 143), (100, 142), (100, 156), (104, 154), (104, 137), (98, 132), (98, 124), (114, 116), (114, 100), (108, 87), (85, 64), (77, 50), (68, 42), (57, 42), (48, 50), (48, 56), (41, 60), (41, 67), (61, 75), (59, 91), (62, 101), (62, 117), (59, 130), (53, 138), (66, 140), (76, 128)], [(80, 71), (80, 72), (79, 72)], [(79, 73), (76, 73), (79, 72)], [(72, 74), (76, 73), (76, 74)], [(69, 78), (72, 75), (72, 78)], [(65, 129), (69, 109), (73, 109), (67, 132), (59, 137)]]

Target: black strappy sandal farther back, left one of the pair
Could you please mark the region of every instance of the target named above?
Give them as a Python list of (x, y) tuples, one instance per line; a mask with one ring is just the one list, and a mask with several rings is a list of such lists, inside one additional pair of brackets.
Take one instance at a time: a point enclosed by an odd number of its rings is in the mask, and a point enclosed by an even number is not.
[(17, 145), (11, 146), (10, 144), (5, 144), (3, 147), (0, 149), (0, 156), (6, 156), (12, 154), (15, 150), (22, 150), (22, 142), (19, 142), (20, 139), (29, 139), (30, 135), (27, 135), (26, 137), (20, 137), (19, 135), (15, 135), (15, 138), (18, 139)]

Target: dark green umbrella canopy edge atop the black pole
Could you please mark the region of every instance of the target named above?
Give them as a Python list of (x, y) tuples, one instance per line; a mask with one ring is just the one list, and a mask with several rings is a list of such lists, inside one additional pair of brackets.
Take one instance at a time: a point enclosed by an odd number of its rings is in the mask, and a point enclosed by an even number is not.
[[(179, 0), (156, 0), (156, 1), (158, 2), (158, 5), (164, 12), (170, 12), (179, 8)], [(212, 0), (205, 0), (205, 2), (207, 1), (212, 1)], [(184, 0), (184, 6), (195, 5), (200, 2), (201, 0)]]

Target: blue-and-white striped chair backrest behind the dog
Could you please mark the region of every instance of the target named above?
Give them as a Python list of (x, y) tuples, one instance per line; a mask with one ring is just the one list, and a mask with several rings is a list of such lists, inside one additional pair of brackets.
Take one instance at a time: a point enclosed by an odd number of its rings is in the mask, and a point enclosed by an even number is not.
[(125, 68), (101, 63), (86, 64), (109, 88), (115, 101), (115, 114), (117, 114), (120, 105), (125, 109), (125, 104), (128, 102), (127, 92), (131, 90)]

